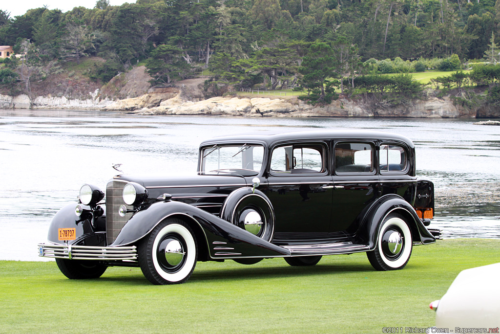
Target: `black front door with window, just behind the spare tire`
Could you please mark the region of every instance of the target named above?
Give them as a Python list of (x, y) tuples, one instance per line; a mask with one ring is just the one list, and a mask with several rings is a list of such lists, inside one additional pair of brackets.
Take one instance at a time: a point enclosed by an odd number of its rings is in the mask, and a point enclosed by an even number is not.
[(325, 238), (333, 185), (326, 142), (284, 143), (270, 151), (267, 197), (275, 240)]

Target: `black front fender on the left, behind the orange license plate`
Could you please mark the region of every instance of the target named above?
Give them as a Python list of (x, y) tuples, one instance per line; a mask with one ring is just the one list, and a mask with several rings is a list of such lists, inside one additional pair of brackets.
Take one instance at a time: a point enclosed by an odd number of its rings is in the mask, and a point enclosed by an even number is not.
[[(77, 205), (81, 206), (84, 210), (83, 214), (79, 217), (74, 211)], [(80, 204), (79, 202), (72, 202), (57, 211), (52, 218), (48, 227), (47, 240), (57, 244), (64, 244), (65, 242), (58, 240), (59, 228), (76, 229), (75, 240), (68, 240), (68, 244), (76, 244), (80, 242), (82, 238), (94, 232), (105, 231), (105, 217), (101, 216), (95, 220), (95, 228), (90, 224), (91, 219), (90, 207)]]

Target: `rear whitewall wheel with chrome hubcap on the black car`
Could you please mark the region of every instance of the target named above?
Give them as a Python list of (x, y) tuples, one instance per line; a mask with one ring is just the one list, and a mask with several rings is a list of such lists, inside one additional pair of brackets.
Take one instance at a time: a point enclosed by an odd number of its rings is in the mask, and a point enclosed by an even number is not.
[(402, 269), (408, 263), (413, 240), (404, 217), (389, 214), (378, 233), (376, 247), (366, 252), (370, 264), (376, 270)]

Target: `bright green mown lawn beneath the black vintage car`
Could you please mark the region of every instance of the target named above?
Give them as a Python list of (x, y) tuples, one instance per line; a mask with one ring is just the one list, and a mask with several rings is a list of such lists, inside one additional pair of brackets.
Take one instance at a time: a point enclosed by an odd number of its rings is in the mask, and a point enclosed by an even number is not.
[(0, 261), (1, 333), (336, 332), (429, 327), (463, 269), (499, 261), (500, 242), (446, 239), (413, 248), (406, 268), (374, 271), (365, 254), (314, 267), (198, 262), (185, 284), (149, 284), (138, 268), (69, 280), (54, 262)]

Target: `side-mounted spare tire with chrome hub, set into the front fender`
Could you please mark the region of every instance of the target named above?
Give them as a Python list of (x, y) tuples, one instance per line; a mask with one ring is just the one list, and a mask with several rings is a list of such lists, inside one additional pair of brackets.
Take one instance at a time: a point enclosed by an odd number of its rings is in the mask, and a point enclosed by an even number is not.
[(259, 190), (245, 187), (231, 192), (222, 204), (220, 218), (265, 241), (272, 239), (274, 210), (267, 196)]

